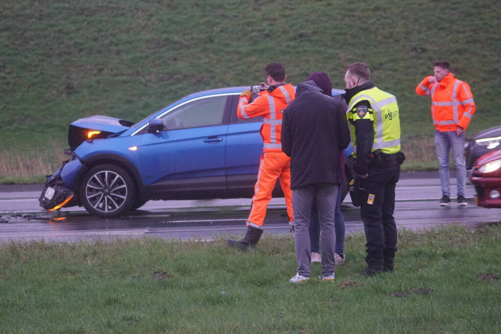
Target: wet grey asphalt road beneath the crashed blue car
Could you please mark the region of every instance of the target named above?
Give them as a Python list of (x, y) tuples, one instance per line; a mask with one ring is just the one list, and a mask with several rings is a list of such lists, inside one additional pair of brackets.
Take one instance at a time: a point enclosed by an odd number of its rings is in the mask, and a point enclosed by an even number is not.
[[(419, 230), (448, 223), (474, 228), (480, 223), (501, 220), (501, 210), (474, 206), (471, 185), (467, 186), (466, 207), (460, 207), (454, 201), (447, 207), (439, 207), (436, 198), (440, 197), (440, 187), (437, 182), (436, 178), (401, 179), (396, 190), (395, 209), (399, 228)], [(35, 190), (0, 188), (0, 242), (110, 240), (143, 236), (211, 239), (220, 235), (241, 235), (246, 229), (245, 218), (250, 207), (248, 198), (150, 201), (126, 216), (103, 219), (89, 215), (80, 207), (60, 212), (42, 211), (38, 206), (41, 189)], [(453, 184), (451, 191), (455, 192)], [(347, 233), (363, 230), (359, 209), (351, 205), (349, 196), (342, 204), (342, 211)], [(284, 199), (272, 199), (265, 232), (289, 233), (287, 220)]]

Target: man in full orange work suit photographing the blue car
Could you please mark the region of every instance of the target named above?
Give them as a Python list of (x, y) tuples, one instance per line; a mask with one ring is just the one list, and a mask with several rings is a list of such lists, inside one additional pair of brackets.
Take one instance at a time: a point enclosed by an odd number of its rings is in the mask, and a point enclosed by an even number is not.
[(228, 246), (247, 249), (258, 243), (263, 233), (263, 222), (266, 208), (272, 191), (280, 179), (287, 204), (287, 214), (292, 225), (292, 190), (291, 190), (291, 158), (282, 151), (281, 131), (282, 112), (295, 98), (292, 84), (285, 83), (285, 68), (278, 62), (272, 62), (265, 67), (268, 84), (261, 82), (263, 89), (258, 97), (250, 102), (252, 91), (245, 89), (238, 100), (237, 115), (239, 118), (263, 117), (261, 136), (263, 137), (263, 154), (259, 164), (258, 181), (254, 186), (255, 193), (246, 225), (247, 231), (241, 240), (228, 239)]

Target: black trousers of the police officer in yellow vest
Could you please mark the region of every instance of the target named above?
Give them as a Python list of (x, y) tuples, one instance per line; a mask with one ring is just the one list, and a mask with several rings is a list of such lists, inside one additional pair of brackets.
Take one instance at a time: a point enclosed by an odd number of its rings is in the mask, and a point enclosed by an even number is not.
[(383, 166), (369, 166), (369, 176), (360, 178), (363, 188), (360, 215), (364, 222), (367, 240), (367, 259), (394, 258), (397, 251), (397, 226), (393, 218), (395, 210), (395, 186), (400, 177), (397, 161)]

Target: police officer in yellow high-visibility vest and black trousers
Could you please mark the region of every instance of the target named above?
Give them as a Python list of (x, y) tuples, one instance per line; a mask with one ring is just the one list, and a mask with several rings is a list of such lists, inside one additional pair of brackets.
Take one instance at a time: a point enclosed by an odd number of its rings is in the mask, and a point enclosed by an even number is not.
[(346, 67), (347, 119), (358, 175), (360, 215), (367, 243), (362, 275), (393, 270), (397, 228), (393, 211), (400, 176), (400, 119), (397, 99), (370, 81), (370, 69), (356, 62)]

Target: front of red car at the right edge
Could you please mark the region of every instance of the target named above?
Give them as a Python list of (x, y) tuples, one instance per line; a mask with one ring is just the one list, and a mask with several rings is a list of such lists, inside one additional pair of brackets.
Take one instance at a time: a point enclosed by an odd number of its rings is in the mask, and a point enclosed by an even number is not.
[(470, 176), (475, 186), (475, 204), (501, 207), (501, 149), (480, 156)]

